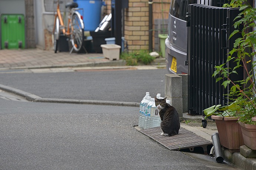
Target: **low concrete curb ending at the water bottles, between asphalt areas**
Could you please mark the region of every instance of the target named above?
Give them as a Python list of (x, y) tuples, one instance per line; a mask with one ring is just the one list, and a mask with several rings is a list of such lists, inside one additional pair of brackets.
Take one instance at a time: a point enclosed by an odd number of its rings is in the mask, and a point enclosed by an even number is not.
[(116, 101), (93, 101), (93, 100), (76, 100), (76, 99), (54, 99), (54, 98), (41, 98), (40, 96), (28, 93), (16, 88), (0, 84), (0, 89), (11, 92), (16, 95), (24, 97), (31, 102), (44, 102), (44, 103), (73, 103), (73, 104), (91, 104), (91, 105), (111, 105), (111, 106), (140, 106), (136, 102), (116, 102)]

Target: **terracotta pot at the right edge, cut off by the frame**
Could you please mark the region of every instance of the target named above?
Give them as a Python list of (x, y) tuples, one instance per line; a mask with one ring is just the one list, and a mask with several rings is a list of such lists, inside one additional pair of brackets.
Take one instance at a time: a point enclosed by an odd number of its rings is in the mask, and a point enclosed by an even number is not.
[(244, 145), (252, 150), (256, 150), (256, 125), (248, 125), (239, 122), (242, 128)]

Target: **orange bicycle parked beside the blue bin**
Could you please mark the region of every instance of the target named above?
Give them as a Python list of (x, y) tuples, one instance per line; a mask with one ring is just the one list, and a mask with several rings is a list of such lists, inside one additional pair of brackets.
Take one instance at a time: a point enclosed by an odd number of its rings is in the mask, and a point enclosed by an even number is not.
[(83, 18), (81, 14), (77, 11), (79, 10), (79, 8), (77, 8), (78, 4), (75, 2), (70, 2), (65, 5), (65, 7), (68, 8), (68, 26), (65, 26), (59, 8), (60, 3), (63, 3), (63, 1), (58, 0), (54, 2), (57, 3), (57, 12), (55, 14), (55, 21), (53, 27), (54, 52), (56, 53), (58, 51), (60, 34), (63, 34), (70, 38), (70, 42), (72, 44), (72, 49), (70, 50), (70, 53), (73, 50), (79, 52), (83, 47), (84, 25)]

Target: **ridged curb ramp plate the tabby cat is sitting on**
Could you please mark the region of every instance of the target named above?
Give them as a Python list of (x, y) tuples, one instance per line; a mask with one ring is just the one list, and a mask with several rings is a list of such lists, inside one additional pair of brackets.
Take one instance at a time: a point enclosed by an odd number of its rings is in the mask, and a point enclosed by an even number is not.
[(194, 151), (195, 147), (202, 147), (204, 153), (207, 154), (207, 146), (212, 143), (208, 140), (184, 129), (180, 128), (178, 135), (175, 136), (161, 136), (163, 132), (160, 127), (139, 130), (144, 135), (167, 147), (170, 150), (189, 149)]

